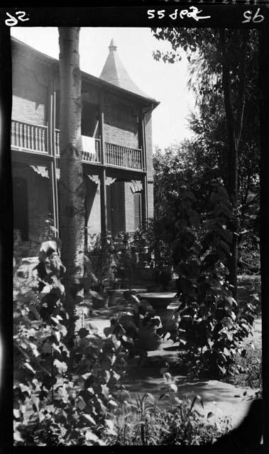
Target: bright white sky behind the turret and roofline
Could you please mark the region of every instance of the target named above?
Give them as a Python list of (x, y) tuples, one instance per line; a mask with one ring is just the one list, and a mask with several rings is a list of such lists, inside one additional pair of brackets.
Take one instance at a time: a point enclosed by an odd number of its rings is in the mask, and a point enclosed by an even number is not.
[[(59, 57), (57, 28), (12, 27), (11, 35), (51, 57)], [(187, 116), (194, 109), (194, 95), (187, 89), (187, 59), (174, 65), (156, 62), (153, 50), (168, 50), (169, 43), (153, 38), (150, 28), (82, 27), (79, 38), (80, 67), (99, 77), (114, 38), (119, 57), (133, 82), (160, 101), (153, 111), (153, 145), (165, 148), (189, 138)]]

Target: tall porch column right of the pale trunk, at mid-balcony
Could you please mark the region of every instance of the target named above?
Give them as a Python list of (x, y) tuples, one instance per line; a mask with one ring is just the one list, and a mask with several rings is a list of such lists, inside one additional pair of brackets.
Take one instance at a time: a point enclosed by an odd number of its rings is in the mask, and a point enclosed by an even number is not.
[[(105, 145), (104, 145), (104, 95), (100, 93), (99, 99), (99, 125), (100, 125), (100, 157), (101, 165), (105, 166)], [(106, 167), (102, 167), (100, 174), (100, 203), (101, 203), (101, 238), (106, 242), (107, 220), (106, 220)]]

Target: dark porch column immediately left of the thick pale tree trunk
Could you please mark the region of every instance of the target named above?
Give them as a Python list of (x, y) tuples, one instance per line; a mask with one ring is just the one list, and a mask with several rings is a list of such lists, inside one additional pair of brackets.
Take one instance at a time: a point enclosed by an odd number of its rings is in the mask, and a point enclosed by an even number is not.
[(56, 89), (55, 82), (50, 82), (48, 99), (48, 154), (50, 155), (49, 190), (50, 204), (53, 209), (53, 224), (55, 236), (59, 238), (59, 208), (57, 194), (56, 149), (55, 149), (55, 115), (56, 115)]

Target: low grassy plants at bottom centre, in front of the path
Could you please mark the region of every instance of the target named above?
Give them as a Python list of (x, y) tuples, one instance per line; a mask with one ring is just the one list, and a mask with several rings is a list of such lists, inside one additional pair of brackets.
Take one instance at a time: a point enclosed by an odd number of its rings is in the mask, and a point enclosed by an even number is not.
[[(215, 421), (212, 416), (199, 413), (196, 402), (202, 405), (198, 395), (192, 401), (179, 399), (177, 387), (168, 372), (163, 374), (165, 387), (172, 405), (163, 410), (155, 402), (153, 394), (137, 396), (136, 404), (125, 399), (114, 424), (114, 434), (108, 437), (109, 445), (205, 445), (229, 431), (229, 421)], [(168, 394), (161, 394), (159, 401)]]

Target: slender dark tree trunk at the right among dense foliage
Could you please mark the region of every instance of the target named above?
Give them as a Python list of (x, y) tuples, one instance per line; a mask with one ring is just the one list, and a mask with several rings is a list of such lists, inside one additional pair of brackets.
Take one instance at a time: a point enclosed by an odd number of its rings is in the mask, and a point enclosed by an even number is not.
[(229, 228), (234, 233), (231, 243), (231, 257), (228, 262), (229, 283), (233, 286), (233, 295), (237, 299), (237, 260), (238, 260), (238, 148), (235, 136), (234, 113), (231, 104), (231, 77), (228, 55), (226, 51), (225, 30), (219, 31), (221, 45), (221, 65), (222, 65), (222, 85), (224, 90), (224, 106), (226, 116), (226, 131), (228, 138), (228, 175), (227, 175), (227, 192), (231, 199), (233, 207), (233, 218), (229, 223)]

